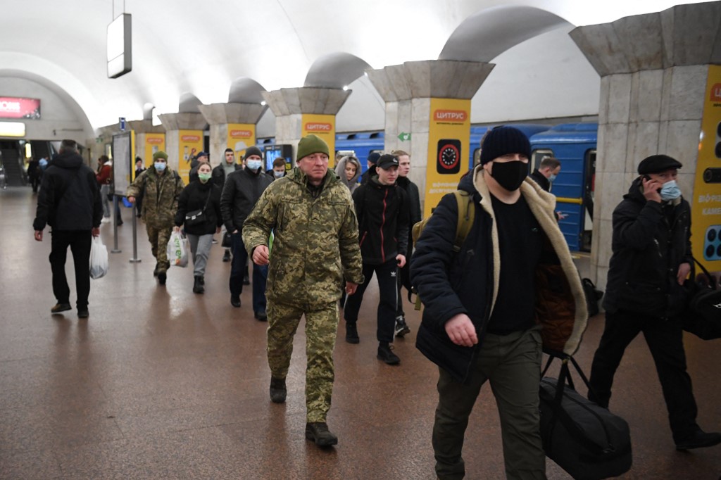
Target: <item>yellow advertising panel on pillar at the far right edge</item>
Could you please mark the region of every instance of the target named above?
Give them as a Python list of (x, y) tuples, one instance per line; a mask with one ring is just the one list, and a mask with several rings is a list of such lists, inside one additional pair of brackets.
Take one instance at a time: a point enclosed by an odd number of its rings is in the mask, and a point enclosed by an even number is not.
[(721, 66), (709, 66), (691, 203), (694, 257), (721, 272)]

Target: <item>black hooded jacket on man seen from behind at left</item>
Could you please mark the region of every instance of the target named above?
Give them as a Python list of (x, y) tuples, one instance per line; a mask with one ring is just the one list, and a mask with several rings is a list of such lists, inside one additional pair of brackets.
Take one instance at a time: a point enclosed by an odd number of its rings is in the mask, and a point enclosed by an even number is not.
[(53, 158), (43, 174), (32, 228), (45, 224), (54, 230), (91, 230), (102, 221), (102, 200), (95, 172), (76, 153)]

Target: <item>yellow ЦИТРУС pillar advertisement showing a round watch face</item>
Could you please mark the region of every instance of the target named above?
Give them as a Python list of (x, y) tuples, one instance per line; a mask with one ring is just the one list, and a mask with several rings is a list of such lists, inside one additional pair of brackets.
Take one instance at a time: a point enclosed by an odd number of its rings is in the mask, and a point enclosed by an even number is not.
[(432, 98), (429, 115), (424, 218), (430, 215), (443, 195), (458, 189), (461, 176), (468, 172), (471, 101)]

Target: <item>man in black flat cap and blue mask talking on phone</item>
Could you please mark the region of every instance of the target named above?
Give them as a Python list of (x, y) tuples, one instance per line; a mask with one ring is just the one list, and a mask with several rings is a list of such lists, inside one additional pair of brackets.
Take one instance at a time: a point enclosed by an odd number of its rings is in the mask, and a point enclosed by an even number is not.
[(593, 356), (589, 399), (609, 406), (614, 373), (627, 345), (643, 332), (658, 371), (677, 450), (721, 443), (720, 433), (696, 424), (696, 401), (686, 373), (679, 315), (683, 283), (691, 271), (691, 209), (676, 185), (681, 163), (653, 155), (638, 166), (624, 200), (614, 210), (606, 326)]

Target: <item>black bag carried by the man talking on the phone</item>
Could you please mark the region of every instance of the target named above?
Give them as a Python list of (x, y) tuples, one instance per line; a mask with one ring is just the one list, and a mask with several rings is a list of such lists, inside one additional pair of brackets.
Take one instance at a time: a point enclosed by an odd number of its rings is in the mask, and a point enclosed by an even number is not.
[[(696, 278), (694, 264), (701, 267), (705, 278)], [(682, 318), (684, 330), (704, 340), (721, 338), (721, 289), (716, 278), (695, 258), (694, 264), (691, 265), (691, 281), (687, 282), (690, 295)]]

